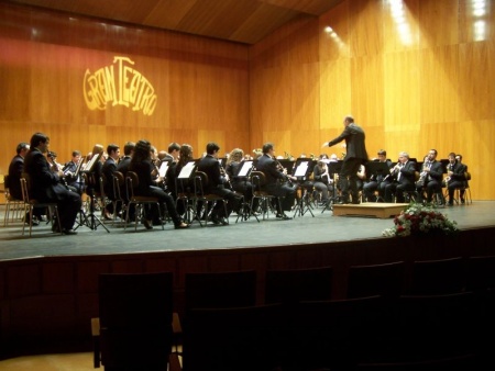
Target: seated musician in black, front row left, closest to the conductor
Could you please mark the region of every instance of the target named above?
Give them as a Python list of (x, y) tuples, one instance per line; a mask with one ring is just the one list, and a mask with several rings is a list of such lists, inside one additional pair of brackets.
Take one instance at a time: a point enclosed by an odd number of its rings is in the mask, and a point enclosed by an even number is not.
[(294, 206), (294, 201), (296, 200), (296, 189), (285, 183), (287, 176), (278, 171), (277, 162), (272, 157), (264, 154), (257, 160), (256, 170), (263, 171), (265, 175), (266, 183), (263, 187), (264, 190), (268, 192), (268, 194), (284, 198), (282, 200), (282, 210), (277, 210), (278, 214), (283, 214), (284, 211), (290, 211)]

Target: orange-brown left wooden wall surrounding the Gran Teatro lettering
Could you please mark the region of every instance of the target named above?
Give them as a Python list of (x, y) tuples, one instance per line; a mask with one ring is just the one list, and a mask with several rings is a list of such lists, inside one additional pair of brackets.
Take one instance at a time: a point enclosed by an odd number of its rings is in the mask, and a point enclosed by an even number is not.
[[(226, 149), (227, 136), (232, 137), (229, 150), (248, 147), (246, 46), (3, 3), (0, 14), (0, 86), (9, 92), (0, 102), (0, 173), (7, 172), (18, 143), (37, 131), (51, 136), (59, 162), (69, 160), (74, 149), (86, 154), (97, 143), (123, 146), (141, 138), (158, 149), (170, 142), (202, 148), (199, 132), (209, 130), (220, 137), (208, 139)], [(15, 23), (3, 21), (11, 19)], [(87, 106), (86, 71), (116, 67), (116, 56), (129, 58), (128, 66), (152, 85), (153, 114), (111, 102), (102, 110)]]

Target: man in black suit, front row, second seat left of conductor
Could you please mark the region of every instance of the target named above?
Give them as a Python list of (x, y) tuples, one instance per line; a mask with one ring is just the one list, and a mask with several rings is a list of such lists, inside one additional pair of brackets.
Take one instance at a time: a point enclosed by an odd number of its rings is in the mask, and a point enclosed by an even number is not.
[(223, 206), (217, 203), (213, 206), (212, 216), (226, 217), (232, 213), (232, 210), (238, 210), (240, 196), (226, 188), (227, 180), (220, 171), (220, 162), (217, 158), (206, 155), (198, 162), (198, 171), (202, 171), (208, 176), (208, 188), (205, 192), (220, 195), (227, 200), (227, 215), (223, 215)]

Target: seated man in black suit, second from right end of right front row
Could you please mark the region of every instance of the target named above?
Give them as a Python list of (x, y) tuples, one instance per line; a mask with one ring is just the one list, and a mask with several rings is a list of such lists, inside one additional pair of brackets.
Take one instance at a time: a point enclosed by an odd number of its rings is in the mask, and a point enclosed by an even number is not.
[[(426, 189), (426, 202), (431, 203), (433, 194), (441, 194), (442, 191), (443, 167), (440, 161), (437, 161), (437, 149), (430, 149), (428, 151), (428, 157), (422, 165), (422, 170), (419, 178), (422, 180), (422, 182), (418, 181), (416, 184), (416, 191), (419, 194), (419, 199), (421, 202), (425, 202), (424, 190)], [(440, 201), (440, 204), (442, 203), (443, 200)]]

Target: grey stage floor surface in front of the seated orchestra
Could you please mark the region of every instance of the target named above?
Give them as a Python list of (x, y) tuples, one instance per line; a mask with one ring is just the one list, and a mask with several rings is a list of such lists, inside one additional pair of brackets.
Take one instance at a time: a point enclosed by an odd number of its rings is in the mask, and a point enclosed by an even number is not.
[[(365, 206), (363, 204), (361, 206)], [(3, 225), (3, 210), (0, 221)], [(470, 205), (455, 205), (440, 209), (442, 213), (455, 221), (459, 228), (495, 226), (495, 201), (474, 201)], [(316, 244), (352, 239), (373, 239), (382, 237), (382, 231), (393, 226), (392, 217), (337, 216), (331, 211), (321, 212), (314, 209), (311, 216), (306, 212), (292, 221), (270, 218), (256, 222), (235, 223), (237, 216), (230, 217), (230, 225), (200, 227), (193, 224), (189, 229), (175, 231), (172, 224), (165, 231), (155, 227), (145, 231), (139, 226), (127, 231), (123, 227), (106, 224), (110, 233), (99, 226), (91, 231), (86, 226), (78, 228), (77, 236), (61, 236), (51, 232), (50, 226), (33, 227), (33, 237), (21, 235), (22, 225), (18, 222), (8, 227), (0, 227), (0, 260), (23, 259), (51, 256), (87, 256), (130, 252), (155, 252), (178, 250), (235, 249), (240, 247), (286, 246), (292, 244)], [(336, 211), (337, 214), (337, 211)], [(290, 215), (294, 215), (292, 213)]]

